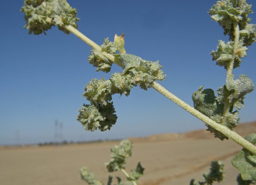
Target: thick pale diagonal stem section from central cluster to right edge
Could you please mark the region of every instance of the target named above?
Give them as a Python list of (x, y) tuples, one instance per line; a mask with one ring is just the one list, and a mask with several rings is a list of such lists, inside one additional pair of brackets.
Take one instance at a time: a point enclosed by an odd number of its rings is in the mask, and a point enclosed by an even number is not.
[(256, 146), (254, 146), (252, 143), (241, 137), (236, 132), (228, 129), (226, 126), (223, 126), (221, 124), (216, 123), (206, 115), (202, 114), (201, 112), (197, 111), (187, 103), (183, 102), (181, 99), (179, 99), (177, 96), (166, 90), (163, 86), (161, 86), (159, 83), (154, 82), (153, 85), (151, 85), (155, 90), (160, 92), (162, 95), (166, 96), (168, 99), (172, 100), (174, 103), (176, 103), (178, 106), (182, 107), (198, 119), (205, 122), (207, 125), (211, 126), (215, 130), (219, 131), (220, 133), (224, 134), (225, 136), (231, 138), (233, 141), (238, 143), (239, 145), (243, 146), (245, 149), (249, 150), (253, 154), (256, 155)]

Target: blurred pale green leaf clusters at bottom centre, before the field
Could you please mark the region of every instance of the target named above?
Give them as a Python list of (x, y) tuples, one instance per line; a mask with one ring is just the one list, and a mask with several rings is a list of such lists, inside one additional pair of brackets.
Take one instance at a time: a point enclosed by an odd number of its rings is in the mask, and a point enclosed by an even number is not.
[[(109, 163), (105, 163), (106, 168), (109, 172), (121, 171), (126, 168), (126, 160), (131, 157), (132, 153), (132, 143), (129, 140), (122, 140), (119, 146), (114, 146), (111, 149), (111, 158)], [(144, 168), (141, 166), (141, 163), (138, 163), (136, 169), (133, 169), (129, 175), (126, 175), (126, 185), (132, 185), (132, 182), (138, 181), (138, 179), (143, 175)], [(82, 167), (80, 169), (80, 174), (82, 180), (86, 181), (88, 184), (92, 185), (103, 185), (102, 181), (96, 180), (93, 173), (90, 173), (87, 167)], [(121, 178), (116, 177), (118, 184), (124, 185)], [(109, 176), (107, 185), (111, 185), (112, 176)]]

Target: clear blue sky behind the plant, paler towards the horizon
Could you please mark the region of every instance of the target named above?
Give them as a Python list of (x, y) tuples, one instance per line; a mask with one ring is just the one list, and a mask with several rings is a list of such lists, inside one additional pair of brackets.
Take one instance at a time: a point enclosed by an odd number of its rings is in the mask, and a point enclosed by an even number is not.
[[(208, 10), (216, 0), (68, 0), (77, 8), (78, 30), (97, 44), (125, 33), (125, 49), (145, 60), (160, 61), (167, 90), (193, 105), (192, 93), (201, 85), (214, 89), (225, 83), (225, 70), (209, 53), (218, 40), (225, 42), (218, 23)], [(253, 5), (256, 12), (256, 3)], [(0, 145), (56, 141), (55, 121), (62, 123), (62, 139), (90, 141), (186, 132), (206, 128), (204, 123), (154, 89), (135, 87), (130, 96), (114, 95), (116, 125), (104, 133), (89, 132), (76, 120), (86, 102), (84, 86), (92, 78), (109, 78), (88, 62), (90, 47), (57, 27), (46, 36), (29, 35), (20, 8), (22, 0), (0, 2)], [(256, 23), (256, 14), (250, 14)], [(256, 43), (240, 68), (256, 82)], [(256, 91), (246, 96), (241, 122), (256, 120)]]

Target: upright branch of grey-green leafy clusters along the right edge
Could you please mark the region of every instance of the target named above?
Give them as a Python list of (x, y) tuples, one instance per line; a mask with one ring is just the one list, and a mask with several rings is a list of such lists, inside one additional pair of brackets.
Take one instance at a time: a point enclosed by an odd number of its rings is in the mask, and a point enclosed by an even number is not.
[[(209, 11), (211, 18), (219, 22), (225, 35), (229, 35), (227, 43), (219, 40), (216, 51), (210, 53), (216, 65), (227, 70), (226, 84), (219, 87), (218, 96), (211, 89), (202, 90), (203, 87), (192, 95), (195, 109), (231, 130), (240, 121), (238, 110), (244, 107), (244, 96), (254, 89), (248, 76), (241, 74), (235, 79), (232, 74), (232, 69), (240, 66), (241, 58), (247, 56), (247, 46), (256, 41), (256, 25), (249, 23), (251, 19), (248, 18), (248, 14), (252, 13), (251, 7), (245, 0), (222, 0), (212, 6)], [(215, 137), (228, 139), (211, 126), (207, 127)]]

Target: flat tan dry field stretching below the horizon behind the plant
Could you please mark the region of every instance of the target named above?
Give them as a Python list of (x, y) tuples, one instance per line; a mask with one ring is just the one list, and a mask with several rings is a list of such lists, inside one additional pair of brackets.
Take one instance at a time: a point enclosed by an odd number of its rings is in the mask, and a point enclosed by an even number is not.
[[(243, 136), (256, 133), (256, 122), (240, 124), (235, 130)], [(227, 173), (223, 185), (237, 184), (235, 179), (239, 171), (232, 167), (230, 160), (241, 147), (231, 140), (220, 141), (204, 130), (130, 140), (134, 148), (127, 170), (141, 162), (145, 175), (140, 185), (189, 185), (191, 178), (200, 180), (201, 174), (208, 172), (212, 160), (225, 163)], [(1, 147), (0, 184), (86, 185), (79, 173), (83, 165), (106, 184), (109, 173), (104, 162), (110, 159), (110, 148), (118, 144), (112, 141), (65, 146)], [(119, 173), (111, 175), (124, 177)]]

